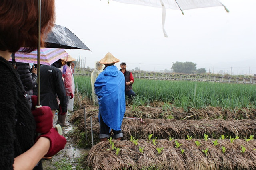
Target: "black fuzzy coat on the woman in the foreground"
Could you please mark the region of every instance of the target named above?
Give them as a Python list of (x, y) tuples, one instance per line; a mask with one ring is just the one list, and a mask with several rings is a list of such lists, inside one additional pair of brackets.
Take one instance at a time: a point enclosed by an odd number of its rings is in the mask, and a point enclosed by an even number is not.
[(36, 122), (24, 92), (16, 70), (0, 57), (0, 170), (12, 170), (14, 158), (34, 145)]

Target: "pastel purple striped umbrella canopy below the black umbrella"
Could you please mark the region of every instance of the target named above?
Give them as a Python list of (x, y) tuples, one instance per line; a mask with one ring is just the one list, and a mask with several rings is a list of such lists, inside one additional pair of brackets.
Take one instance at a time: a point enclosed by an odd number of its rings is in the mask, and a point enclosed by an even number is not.
[[(21, 63), (34, 63), (37, 64), (37, 50), (32, 51), (31, 53), (20, 52), (15, 53), (15, 61)], [(67, 57), (68, 53), (64, 49), (54, 49), (54, 48), (40, 48), (40, 64), (43, 65), (52, 65), (58, 59)], [(12, 61), (10, 59), (9, 61)]]

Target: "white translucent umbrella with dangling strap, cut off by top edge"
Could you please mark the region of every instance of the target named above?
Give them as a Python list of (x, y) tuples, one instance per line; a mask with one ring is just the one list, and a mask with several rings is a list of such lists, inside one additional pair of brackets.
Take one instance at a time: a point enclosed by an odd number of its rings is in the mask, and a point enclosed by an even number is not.
[[(109, 1), (109, 0), (108, 0)], [(144, 6), (152, 6), (152, 7), (160, 7), (163, 9), (162, 11), (162, 26), (164, 36), (168, 37), (166, 31), (164, 30), (165, 23), (165, 15), (166, 8), (170, 8), (173, 10), (181, 10), (184, 15), (183, 10), (190, 10), (195, 8), (206, 8), (206, 7), (214, 7), (214, 6), (223, 6), (227, 12), (229, 10), (218, 0), (112, 0), (116, 2), (122, 2), (126, 4), (137, 4)]]

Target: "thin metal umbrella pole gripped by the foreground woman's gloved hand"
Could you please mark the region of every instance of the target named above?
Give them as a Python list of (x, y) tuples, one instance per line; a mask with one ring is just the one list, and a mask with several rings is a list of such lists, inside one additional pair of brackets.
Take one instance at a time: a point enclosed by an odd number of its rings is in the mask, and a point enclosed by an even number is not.
[(41, 47), (41, 0), (38, 0), (38, 43), (37, 43), (37, 87), (38, 107), (40, 107), (40, 47)]

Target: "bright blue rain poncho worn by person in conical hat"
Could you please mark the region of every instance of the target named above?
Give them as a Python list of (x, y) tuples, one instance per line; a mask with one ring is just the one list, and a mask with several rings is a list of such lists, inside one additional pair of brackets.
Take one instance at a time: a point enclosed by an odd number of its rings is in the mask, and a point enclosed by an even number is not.
[(116, 66), (108, 66), (97, 77), (94, 87), (99, 102), (100, 115), (110, 127), (121, 130), (125, 112), (124, 74)]

